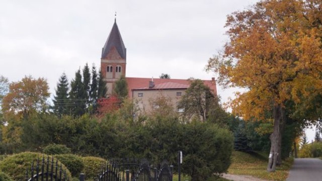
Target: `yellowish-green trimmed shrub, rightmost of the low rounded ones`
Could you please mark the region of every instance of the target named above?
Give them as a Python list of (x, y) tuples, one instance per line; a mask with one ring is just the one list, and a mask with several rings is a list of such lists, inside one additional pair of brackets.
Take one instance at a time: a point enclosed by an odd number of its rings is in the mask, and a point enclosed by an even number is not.
[(106, 160), (99, 157), (83, 157), (84, 169), (82, 173), (85, 173), (85, 178), (87, 180), (93, 180), (97, 178), (97, 175), (100, 173), (102, 165), (106, 163)]

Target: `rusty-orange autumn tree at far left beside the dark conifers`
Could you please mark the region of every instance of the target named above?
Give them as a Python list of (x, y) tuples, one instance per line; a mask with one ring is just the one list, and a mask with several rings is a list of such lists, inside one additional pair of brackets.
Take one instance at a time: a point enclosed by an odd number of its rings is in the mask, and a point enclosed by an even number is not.
[(49, 97), (48, 83), (44, 78), (34, 79), (26, 76), (21, 81), (9, 85), (9, 93), (3, 98), (2, 109), (5, 114), (22, 114), (27, 118), (32, 112), (47, 109)]

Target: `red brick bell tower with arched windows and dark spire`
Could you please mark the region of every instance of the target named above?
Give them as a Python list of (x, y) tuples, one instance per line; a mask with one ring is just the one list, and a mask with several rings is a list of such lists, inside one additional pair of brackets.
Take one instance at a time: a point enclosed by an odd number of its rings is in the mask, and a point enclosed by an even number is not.
[(108, 95), (112, 94), (114, 82), (121, 76), (125, 77), (125, 70), (126, 48), (115, 19), (110, 35), (102, 48), (101, 57), (101, 72), (106, 82)]

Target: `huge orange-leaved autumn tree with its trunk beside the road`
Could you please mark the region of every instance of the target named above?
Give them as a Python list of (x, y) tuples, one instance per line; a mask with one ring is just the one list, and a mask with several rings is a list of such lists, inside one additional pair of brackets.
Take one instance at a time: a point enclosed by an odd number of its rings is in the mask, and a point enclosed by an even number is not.
[(227, 17), (229, 41), (209, 59), (223, 87), (241, 87), (230, 102), (246, 120), (272, 119), (267, 170), (280, 162), (285, 104), (321, 90), (321, 1), (267, 0)]

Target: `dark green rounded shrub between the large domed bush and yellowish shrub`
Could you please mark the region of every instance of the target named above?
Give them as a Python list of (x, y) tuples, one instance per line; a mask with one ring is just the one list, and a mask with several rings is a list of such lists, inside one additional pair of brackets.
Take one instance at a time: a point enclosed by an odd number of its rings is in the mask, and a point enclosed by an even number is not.
[(83, 158), (73, 154), (55, 155), (70, 171), (71, 176), (78, 177), (79, 173), (84, 169)]

